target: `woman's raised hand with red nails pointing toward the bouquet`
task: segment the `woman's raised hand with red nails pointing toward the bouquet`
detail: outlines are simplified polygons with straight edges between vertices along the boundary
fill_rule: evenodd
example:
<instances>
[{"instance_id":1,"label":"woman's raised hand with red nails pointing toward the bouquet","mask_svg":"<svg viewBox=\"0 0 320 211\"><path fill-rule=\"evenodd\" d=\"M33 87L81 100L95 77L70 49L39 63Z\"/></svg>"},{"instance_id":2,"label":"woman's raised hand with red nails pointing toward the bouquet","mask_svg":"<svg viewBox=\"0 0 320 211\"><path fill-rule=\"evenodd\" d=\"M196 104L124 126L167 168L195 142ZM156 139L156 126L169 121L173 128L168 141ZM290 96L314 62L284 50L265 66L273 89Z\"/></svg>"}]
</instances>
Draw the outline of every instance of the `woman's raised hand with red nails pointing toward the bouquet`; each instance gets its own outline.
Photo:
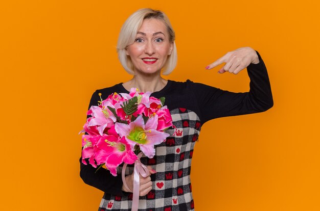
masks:
<instances>
[{"instance_id":1,"label":"woman's raised hand with red nails pointing toward the bouquet","mask_svg":"<svg viewBox=\"0 0 320 211\"><path fill-rule=\"evenodd\" d=\"M225 63L225 65L218 71L218 73L228 71L230 73L238 74L241 70L249 66L249 64L258 64L259 58L254 49L250 47L241 47L227 52L223 57L205 67L205 69L210 70L222 63Z\"/></svg>"}]
</instances>

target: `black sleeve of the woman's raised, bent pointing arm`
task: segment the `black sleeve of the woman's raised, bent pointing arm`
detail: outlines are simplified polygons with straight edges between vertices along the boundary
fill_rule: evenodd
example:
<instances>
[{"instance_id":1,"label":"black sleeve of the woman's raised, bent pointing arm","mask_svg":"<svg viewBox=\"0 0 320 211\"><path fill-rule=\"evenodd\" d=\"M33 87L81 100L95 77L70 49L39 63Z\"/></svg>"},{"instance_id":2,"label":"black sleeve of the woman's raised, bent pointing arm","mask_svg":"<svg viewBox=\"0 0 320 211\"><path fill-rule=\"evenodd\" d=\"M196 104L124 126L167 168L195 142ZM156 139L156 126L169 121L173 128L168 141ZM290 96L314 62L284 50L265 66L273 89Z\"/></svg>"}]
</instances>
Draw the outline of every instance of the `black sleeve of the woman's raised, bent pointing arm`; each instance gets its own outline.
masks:
<instances>
[{"instance_id":1,"label":"black sleeve of the woman's raised, bent pointing arm","mask_svg":"<svg viewBox=\"0 0 320 211\"><path fill-rule=\"evenodd\" d=\"M250 91L234 93L199 83L192 83L202 124L211 119L263 112L273 106L269 77L258 53L259 63L247 67Z\"/></svg>"}]
</instances>

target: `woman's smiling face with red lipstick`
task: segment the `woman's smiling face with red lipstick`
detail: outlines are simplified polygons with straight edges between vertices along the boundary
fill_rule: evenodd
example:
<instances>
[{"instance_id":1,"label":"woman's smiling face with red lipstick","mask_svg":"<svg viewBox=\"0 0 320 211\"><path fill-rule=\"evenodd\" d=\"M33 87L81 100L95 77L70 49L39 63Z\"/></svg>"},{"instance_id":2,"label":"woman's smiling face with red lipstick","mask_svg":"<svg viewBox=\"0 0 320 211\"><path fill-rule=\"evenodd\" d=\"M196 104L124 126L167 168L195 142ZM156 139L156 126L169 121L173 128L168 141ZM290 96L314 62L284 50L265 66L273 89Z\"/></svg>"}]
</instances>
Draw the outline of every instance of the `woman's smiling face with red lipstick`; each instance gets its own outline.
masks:
<instances>
[{"instance_id":1,"label":"woman's smiling face with red lipstick","mask_svg":"<svg viewBox=\"0 0 320 211\"><path fill-rule=\"evenodd\" d=\"M142 22L134 43L126 51L135 74L152 74L161 71L172 48L166 25L161 20L150 18Z\"/></svg>"}]
</instances>

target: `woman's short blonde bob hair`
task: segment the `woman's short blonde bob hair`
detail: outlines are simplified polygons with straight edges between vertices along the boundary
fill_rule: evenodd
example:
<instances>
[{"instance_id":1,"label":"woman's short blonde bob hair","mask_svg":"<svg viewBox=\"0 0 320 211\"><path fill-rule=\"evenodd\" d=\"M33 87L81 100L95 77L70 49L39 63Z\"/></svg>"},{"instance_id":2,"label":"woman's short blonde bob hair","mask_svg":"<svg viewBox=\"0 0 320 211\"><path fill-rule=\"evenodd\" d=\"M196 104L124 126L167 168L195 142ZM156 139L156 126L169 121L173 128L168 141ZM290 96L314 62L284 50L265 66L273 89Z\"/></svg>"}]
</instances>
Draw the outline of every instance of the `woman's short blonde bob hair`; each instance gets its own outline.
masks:
<instances>
[{"instance_id":1,"label":"woman's short blonde bob hair","mask_svg":"<svg viewBox=\"0 0 320 211\"><path fill-rule=\"evenodd\" d=\"M168 33L169 33L169 42L173 42L173 49L171 51L171 55L168 56L167 62L163 68L162 74L168 75L172 72L172 70L175 68L177 64L177 49L175 46L175 33L172 29L171 23L165 13L159 10L152 10L149 8L146 9L140 9L136 12L134 12L122 25L119 38L118 38L118 44L117 44L117 52L118 52L118 58L124 67L124 69L129 74L134 74L134 67L131 62L130 56L126 55L126 47L131 45L136 37L136 34L138 33L139 28L142 25L142 22L144 19L149 18L155 18L158 20L161 20L167 27Z\"/></svg>"}]
</instances>

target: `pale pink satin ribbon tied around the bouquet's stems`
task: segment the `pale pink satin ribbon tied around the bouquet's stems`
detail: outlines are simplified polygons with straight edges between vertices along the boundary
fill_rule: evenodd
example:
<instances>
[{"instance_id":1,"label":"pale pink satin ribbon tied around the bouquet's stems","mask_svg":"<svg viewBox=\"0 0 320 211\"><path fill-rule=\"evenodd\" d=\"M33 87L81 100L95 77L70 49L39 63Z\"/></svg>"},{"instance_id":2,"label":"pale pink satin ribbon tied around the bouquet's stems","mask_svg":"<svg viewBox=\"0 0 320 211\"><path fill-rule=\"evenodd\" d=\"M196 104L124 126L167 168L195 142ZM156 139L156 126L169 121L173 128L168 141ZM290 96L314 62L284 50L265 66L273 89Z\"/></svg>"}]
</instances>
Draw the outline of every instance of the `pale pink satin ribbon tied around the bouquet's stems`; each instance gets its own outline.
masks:
<instances>
[{"instance_id":1,"label":"pale pink satin ribbon tied around the bouquet's stems","mask_svg":"<svg viewBox=\"0 0 320 211\"><path fill-rule=\"evenodd\" d=\"M143 152L140 152L138 154L138 160L134 162L134 169L133 169L133 191L129 189L127 186L126 180L125 180L125 171L127 164L125 163L122 168L122 181L124 186L128 189L128 191L133 193L132 196L132 207L131 211L137 211L138 210L138 205L139 205L139 190L140 190L140 176L147 177L149 175L149 170L148 168L141 163L140 159L142 156Z\"/></svg>"}]
</instances>

